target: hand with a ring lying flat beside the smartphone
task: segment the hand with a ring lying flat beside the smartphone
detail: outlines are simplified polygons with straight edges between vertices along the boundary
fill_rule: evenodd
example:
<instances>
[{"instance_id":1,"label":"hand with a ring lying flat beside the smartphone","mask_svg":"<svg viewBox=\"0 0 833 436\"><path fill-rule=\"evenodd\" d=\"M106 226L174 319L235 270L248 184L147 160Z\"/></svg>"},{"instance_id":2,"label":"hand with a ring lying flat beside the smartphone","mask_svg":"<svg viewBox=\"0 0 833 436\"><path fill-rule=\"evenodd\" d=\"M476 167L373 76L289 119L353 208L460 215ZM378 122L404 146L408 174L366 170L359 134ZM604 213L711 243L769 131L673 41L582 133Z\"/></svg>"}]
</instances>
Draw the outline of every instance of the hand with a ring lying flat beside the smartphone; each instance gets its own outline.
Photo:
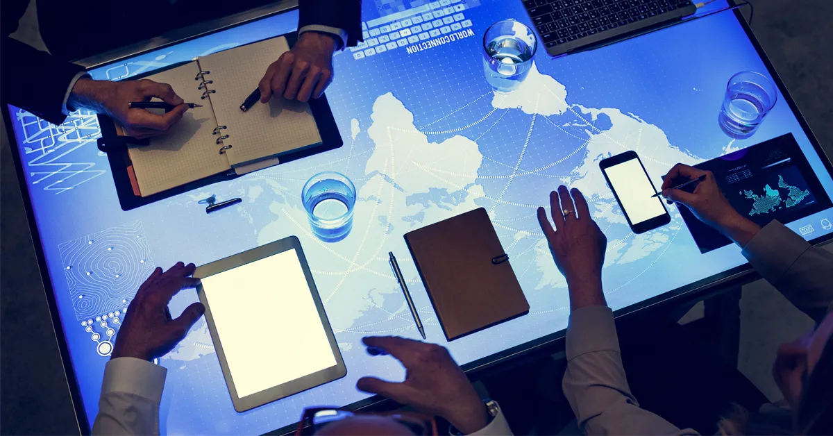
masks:
<instances>
[{"instance_id":1,"label":"hand with a ring lying flat beside the smartphone","mask_svg":"<svg viewBox=\"0 0 833 436\"><path fill-rule=\"evenodd\" d=\"M570 198L566 186L561 185L557 193L550 193L550 208L555 230L546 219L544 208L538 208L538 223L558 270L567 280L571 310L606 306L601 291L601 267L605 263L607 238L591 218L587 201L576 188ZM563 211L569 213L565 216Z\"/></svg>"}]
</instances>

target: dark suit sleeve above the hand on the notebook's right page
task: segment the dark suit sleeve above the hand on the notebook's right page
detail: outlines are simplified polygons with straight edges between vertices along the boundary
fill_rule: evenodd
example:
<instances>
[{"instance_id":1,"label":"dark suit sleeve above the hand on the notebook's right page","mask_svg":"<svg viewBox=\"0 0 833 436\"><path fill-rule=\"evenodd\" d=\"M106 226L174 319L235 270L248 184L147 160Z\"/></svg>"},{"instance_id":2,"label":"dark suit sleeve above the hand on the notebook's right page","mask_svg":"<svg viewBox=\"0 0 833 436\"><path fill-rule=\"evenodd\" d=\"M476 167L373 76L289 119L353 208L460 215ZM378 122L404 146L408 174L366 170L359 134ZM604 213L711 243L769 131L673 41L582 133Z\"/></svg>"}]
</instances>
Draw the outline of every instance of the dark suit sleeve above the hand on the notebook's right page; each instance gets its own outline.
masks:
<instances>
[{"instance_id":1,"label":"dark suit sleeve above the hand on the notebook's right page","mask_svg":"<svg viewBox=\"0 0 833 436\"><path fill-rule=\"evenodd\" d=\"M361 0L299 0L298 28L330 26L347 32L347 46L362 40Z\"/></svg>"}]
</instances>

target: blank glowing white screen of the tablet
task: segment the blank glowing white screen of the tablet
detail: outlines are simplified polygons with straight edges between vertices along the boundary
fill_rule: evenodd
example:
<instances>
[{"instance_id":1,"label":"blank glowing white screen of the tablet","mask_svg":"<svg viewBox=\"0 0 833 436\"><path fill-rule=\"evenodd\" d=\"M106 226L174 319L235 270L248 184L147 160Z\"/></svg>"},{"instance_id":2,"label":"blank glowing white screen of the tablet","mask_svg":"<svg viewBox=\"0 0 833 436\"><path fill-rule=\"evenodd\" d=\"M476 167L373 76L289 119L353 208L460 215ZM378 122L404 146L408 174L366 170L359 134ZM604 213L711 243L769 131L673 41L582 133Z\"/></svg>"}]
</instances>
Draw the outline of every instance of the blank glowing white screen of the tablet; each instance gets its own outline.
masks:
<instances>
[{"instance_id":1,"label":"blank glowing white screen of the tablet","mask_svg":"<svg viewBox=\"0 0 833 436\"><path fill-rule=\"evenodd\" d=\"M294 249L202 278L240 398L336 365Z\"/></svg>"}]
</instances>

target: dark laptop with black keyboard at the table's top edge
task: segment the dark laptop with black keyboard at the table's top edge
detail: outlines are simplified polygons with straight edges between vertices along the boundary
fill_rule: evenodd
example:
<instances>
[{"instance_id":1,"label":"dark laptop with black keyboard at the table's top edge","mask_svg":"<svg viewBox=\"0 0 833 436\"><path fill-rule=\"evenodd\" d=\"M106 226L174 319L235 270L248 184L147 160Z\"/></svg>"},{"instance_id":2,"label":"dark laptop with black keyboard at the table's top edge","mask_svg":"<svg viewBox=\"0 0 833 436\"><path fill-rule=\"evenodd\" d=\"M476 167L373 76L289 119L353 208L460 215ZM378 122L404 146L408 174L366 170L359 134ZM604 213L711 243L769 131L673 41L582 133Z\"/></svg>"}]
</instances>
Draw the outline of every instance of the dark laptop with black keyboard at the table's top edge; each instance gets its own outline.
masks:
<instances>
[{"instance_id":1,"label":"dark laptop with black keyboard at the table's top edge","mask_svg":"<svg viewBox=\"0 0 833 436\"><path fill-rule=\"evenodd\" d=\"M524 0L550 56L631 38L696 13L691 0Z\"/></svg>"}]
</instances>

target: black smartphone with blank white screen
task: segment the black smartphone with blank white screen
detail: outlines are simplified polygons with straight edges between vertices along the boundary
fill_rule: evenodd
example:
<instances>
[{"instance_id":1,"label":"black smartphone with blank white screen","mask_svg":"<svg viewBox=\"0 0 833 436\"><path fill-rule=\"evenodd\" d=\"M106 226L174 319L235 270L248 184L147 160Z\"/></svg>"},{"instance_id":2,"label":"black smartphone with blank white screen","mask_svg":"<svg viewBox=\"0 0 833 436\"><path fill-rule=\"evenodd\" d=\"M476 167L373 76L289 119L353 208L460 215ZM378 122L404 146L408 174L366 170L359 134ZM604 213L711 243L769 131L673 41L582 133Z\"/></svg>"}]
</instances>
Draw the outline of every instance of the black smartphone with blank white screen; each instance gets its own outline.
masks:
<instances>
[{"instance_id":1,"label":"black smartphone with blank white screen","mask_svg":"<svg viewBox=\"0 0 833 436\"><path fill-rule=\"evenodd\" d=\"M636 152L626 151L602 159L599 168L633 233L645 233L671 223L662 198L651 197L656 189Z\"/></svg>"}]
</instances>

